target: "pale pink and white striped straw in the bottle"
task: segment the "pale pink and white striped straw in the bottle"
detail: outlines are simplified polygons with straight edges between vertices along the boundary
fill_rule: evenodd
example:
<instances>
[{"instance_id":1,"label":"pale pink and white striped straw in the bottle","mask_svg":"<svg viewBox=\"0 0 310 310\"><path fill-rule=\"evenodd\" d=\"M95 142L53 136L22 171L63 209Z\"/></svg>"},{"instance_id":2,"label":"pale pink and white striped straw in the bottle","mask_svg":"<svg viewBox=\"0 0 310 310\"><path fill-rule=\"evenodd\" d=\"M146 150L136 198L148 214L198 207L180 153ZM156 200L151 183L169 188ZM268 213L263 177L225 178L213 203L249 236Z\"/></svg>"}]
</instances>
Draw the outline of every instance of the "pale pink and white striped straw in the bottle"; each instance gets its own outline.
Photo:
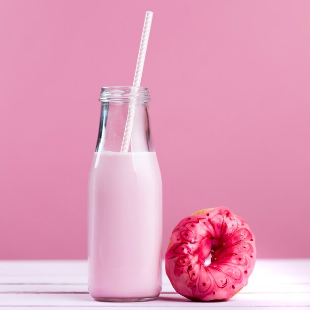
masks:
<instances>
[{"instance_id":1,"label":"pale pink and white striped straw in the bottle","mask_svg":"<svg viewBox=\"0 0 310 310\"><path fill-rule=\"evenodd\" d=\"M140 42L140 48L139 48L139 53L138 53L138 60L137 60L137 65L136 65L133 86L140 86L141 84L144 60L145 60L145 55L147 53L149 36L150 36L150 31L151 31L152 18L153 18L153 12L147 11L145 14L145 19L144 19L144 25L143 25L143 31L142 31L142 37L141 37L141 42ZM125 125L125 132L124 132L122 146L120 150L121 152L128 152L129 150L132 127L133 127L134 117L135 117L135 109L136 109L135 103L129 103L127 120L126 120L126 125Z\"/></svg>"}]
</instances>

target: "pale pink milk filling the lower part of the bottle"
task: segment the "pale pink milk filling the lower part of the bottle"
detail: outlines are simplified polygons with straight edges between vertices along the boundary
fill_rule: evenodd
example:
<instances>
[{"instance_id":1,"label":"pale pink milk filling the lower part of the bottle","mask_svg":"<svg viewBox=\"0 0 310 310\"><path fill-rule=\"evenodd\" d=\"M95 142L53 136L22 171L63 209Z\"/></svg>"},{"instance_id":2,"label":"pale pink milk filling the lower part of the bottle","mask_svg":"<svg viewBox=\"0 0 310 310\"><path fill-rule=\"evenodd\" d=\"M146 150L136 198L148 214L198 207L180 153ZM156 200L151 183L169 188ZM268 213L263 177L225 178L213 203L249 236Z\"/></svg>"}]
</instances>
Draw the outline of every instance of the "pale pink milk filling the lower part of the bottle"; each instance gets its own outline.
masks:
<instances>
[{"instance_id":1,"label":"pale pink milk filling the lower part of the bottle","mask_svg":"<svg viewBox=\"0 0 310 310\"><path fill-rule=\"evenodd\" d=\"M155 152L96 152L88 205L91 296L100 301L158 297L162 188Z\"/></svg>"}]
</instances>

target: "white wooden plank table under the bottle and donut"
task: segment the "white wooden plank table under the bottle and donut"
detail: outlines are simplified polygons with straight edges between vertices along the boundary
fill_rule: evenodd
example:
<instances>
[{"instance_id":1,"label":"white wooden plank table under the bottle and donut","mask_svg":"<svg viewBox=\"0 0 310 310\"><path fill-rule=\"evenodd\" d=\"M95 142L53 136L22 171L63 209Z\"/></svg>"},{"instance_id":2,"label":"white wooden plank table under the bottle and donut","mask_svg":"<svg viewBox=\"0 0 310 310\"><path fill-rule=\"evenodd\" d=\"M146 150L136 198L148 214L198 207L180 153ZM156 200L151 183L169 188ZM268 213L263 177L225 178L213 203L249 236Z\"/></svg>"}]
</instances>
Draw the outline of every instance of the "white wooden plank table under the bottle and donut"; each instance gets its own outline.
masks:
<instances>
[{"instance_id":1,"label":"white wooden plank table under the bottle and donut","mask_svg":"<svg viewBox=\"0 0 310 310\"><path fill-rule=\"evenodd\" d=\"M1 309L138 308L310 309L310 259L260 259L249 284L228 302L197 303L177 294L164 274L151 302L101 303L87 292L84 260L0 261Z\"/></svg>"}]
</instances>

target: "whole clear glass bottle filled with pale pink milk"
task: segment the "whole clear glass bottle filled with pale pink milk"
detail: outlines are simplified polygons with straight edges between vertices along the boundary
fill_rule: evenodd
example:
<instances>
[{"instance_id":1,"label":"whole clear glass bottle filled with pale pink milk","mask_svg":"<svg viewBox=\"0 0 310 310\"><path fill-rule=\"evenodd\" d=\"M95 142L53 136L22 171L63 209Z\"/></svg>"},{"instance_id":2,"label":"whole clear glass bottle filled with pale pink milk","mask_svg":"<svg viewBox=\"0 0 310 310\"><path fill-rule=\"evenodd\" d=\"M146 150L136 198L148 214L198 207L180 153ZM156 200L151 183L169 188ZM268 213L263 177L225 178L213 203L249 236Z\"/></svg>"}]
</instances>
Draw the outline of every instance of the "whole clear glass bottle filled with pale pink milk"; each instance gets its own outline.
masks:
<instances>
[{"instance_id":1,"label":"whole clear glass bottle filled with pale pink milk","mask_svg":"<svg viewBox=\"0 0 310 310\"><path fill-rule=\"evenodd\" d=\"M89 293L147 301L161 291L162 185L146 87L104 87L88 189ZM135 104L129 152L120 152Z\"/></svg>"}]
</instances>

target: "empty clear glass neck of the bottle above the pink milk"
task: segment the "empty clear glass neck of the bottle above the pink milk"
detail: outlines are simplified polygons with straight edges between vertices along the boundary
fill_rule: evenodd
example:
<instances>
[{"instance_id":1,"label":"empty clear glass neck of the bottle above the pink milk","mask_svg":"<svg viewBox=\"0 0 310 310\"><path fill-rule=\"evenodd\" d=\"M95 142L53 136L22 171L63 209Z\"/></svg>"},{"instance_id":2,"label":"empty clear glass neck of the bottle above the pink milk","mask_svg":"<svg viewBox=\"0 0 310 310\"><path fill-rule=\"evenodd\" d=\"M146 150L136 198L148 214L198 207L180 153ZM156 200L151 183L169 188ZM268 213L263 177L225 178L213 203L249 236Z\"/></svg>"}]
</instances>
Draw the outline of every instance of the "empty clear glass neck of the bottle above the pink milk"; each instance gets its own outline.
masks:
<instances>
[{"instance_id":1,"label":"empty clear glass neck of the bottle above the pink milk","mask_svg":"<svg viewBox=\"0 0 310 310\"><path fill-rule=\"evenodd\" d=\"M155 152L150 130L146 88L103 88L96 152L120 152L129 106L135 105L128 152ZM142 94L143 93L143 94Z\"/></svg>"}]
</instances>

